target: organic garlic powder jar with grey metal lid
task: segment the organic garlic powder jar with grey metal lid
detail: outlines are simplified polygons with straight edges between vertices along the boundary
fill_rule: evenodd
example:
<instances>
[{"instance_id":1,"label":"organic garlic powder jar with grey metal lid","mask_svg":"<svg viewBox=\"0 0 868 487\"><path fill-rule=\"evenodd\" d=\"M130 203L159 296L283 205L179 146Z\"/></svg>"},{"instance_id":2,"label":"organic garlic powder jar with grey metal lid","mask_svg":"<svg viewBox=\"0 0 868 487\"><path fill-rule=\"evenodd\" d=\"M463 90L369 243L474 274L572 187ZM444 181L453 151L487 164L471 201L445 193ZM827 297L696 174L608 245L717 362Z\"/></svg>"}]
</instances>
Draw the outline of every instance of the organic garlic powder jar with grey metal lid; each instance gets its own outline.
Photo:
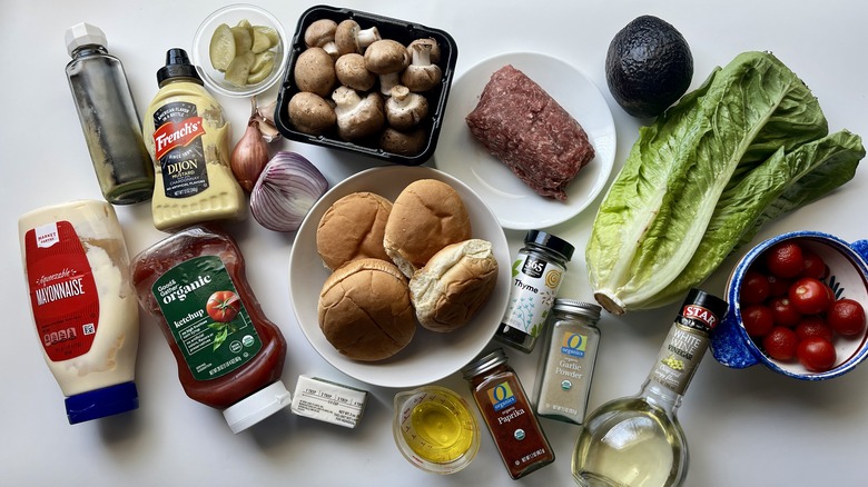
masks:
<instances>
[{"instance_id":1,"label":"organic garlic powder jar with grey metal lid","mask_svg":"<svg viewBox=\"0 0 868 487\"><path fill-rule=\"evenodd\" d=\"M549 332L536 368L533 398L539 416L581 425L600 345L602 308L559 298L549 315Z\"/></svg>"}]
</instances>

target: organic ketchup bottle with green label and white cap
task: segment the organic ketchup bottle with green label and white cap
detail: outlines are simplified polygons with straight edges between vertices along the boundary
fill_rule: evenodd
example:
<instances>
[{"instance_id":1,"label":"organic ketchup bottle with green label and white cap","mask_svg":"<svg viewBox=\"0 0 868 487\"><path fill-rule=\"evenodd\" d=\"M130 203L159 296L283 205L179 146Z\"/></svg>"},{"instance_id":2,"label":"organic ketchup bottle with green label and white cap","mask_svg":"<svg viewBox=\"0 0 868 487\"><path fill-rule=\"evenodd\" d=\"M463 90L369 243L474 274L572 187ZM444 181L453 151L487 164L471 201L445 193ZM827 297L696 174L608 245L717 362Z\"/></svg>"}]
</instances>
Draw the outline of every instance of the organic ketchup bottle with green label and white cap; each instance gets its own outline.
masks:
<instances>
[{"instance_id":1,"label":"organic ketchup bottle with green label and white cap","mask_svg":"<svg viewBox=\"0 0 868 487\"><path fill-rule=\"evenodd\" d=\"M132 260L139 305L154 316L191 399L223 409L233 433L289 406L286 340L266 318L235 240L200 225Z\"/></svg>"}]
</instances>

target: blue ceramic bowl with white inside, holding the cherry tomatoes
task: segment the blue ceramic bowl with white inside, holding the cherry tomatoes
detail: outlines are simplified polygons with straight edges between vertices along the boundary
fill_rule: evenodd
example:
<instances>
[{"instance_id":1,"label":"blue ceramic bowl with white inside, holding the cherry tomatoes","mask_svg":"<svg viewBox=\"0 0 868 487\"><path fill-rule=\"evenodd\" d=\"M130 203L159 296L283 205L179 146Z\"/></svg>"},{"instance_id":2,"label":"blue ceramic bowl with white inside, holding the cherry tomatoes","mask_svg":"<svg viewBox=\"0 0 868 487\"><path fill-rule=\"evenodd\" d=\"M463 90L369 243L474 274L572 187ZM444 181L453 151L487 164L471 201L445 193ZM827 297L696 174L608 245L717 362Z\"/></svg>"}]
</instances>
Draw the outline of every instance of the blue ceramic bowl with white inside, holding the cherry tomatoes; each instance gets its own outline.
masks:
<instances>
[{"instance_id":1,"label":"blue ceramic bowl with white inside, holding the cherry tomatoes","mask_svg":"<svg viewBox=\"0 0 868 487\"><path fill-rule=\"evenodd\" d=\"M831 370L812 372L798 360L780 361L766 355L744 330L741 321L741 281L753 261L771 246L785 240L796 240L803 248L822 257L829 267L826 284L838 299L855 299L868 309L868 240L848 244L838 237L819 231L795 231L770 238L752 248L739 260L727 282L729 311L711 336L714 358L727 367L747 368L757 364L801 380L825 380L852 370L868 357L868 328L857 337L835 337L838 360Z\"/></svg>"}]
</instances>

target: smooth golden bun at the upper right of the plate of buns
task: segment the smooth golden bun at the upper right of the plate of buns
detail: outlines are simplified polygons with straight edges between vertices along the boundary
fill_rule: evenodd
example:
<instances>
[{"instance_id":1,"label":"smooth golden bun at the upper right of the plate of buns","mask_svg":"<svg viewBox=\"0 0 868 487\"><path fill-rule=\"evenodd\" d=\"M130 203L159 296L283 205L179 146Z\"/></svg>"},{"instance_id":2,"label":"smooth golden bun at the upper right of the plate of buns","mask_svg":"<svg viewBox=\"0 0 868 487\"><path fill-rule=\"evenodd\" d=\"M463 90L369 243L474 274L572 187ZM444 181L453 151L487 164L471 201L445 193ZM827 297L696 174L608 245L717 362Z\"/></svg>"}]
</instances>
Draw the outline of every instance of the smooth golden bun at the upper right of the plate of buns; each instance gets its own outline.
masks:
<instances>
[{"instance_id":1,"label":"smooth golden bun at the upper right of the plate of buns","mask_svg":"<svg viewBox=\"0 0 868 487\"><path fill-rule=\"evenodd\" d=\"M395 198L386 220L383 247L407 278L450 244L471 238L464 201L448 183L420 179Z\"/></svg>"}]
</instances>

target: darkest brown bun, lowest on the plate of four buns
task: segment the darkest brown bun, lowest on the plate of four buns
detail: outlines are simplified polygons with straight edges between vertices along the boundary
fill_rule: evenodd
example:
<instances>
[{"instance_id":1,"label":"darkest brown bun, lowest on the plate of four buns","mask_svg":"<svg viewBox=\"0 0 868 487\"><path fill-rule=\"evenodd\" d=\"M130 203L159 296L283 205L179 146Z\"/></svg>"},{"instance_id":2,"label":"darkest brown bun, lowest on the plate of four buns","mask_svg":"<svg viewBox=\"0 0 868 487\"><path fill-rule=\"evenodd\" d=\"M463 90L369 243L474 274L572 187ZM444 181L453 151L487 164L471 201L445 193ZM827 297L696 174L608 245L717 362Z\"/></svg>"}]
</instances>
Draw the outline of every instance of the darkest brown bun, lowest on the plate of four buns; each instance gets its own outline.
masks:
<instances>
[{"instance_id":1,"label":"darkest brown bun, lowest on the plate of four buns","mask_svg":"<svg viewBox=\"0 0 868 487\"><path fill-rule=\"evenodd\" d=\"M335 270L323 284L317 309L328 342L355 360L392 357L416 331L407 280L381 259L352 260Z\"/></svg>"}]
</instances>

